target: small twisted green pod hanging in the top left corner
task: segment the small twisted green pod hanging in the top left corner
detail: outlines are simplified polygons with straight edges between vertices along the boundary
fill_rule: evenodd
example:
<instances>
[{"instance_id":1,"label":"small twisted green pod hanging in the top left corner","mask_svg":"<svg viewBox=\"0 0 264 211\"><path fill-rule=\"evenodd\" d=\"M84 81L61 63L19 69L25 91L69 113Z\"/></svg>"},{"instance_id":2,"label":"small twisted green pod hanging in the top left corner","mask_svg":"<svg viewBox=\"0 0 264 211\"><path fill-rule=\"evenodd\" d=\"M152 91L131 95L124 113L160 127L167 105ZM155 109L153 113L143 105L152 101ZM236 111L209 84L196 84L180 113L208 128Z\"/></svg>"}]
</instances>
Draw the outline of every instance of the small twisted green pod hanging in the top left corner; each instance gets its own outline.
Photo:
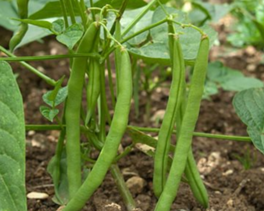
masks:
<instances>
[{"instance_id":1,"label":"small twisted green pod hanging in the top left corner","mask_svg":"<svg viewBox=\"0 0 264 211\"><path fill-rule=\"evenodd\" d=\"M29 0L17 0L18 15L21 19L25 19L28 16L28 4ZM15 47L22 41L28 29L27 23L21 23L18 30L12 36L9 42L10 51L13 52Z\"/></svg>"}]
</instances>

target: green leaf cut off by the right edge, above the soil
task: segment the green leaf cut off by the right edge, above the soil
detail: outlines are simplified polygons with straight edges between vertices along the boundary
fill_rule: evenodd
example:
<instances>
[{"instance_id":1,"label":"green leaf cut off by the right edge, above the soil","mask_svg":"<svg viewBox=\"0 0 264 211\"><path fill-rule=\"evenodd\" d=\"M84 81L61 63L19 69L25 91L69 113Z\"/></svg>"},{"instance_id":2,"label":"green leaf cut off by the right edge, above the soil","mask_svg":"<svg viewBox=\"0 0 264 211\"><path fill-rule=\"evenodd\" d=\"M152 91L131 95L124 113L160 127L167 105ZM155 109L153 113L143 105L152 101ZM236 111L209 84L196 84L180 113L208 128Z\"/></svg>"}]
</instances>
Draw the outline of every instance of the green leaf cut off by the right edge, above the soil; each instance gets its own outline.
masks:
<instances>
[{"instance_id":1,"label":"green leaf cut off by the right edge, above the soil","mask_svg":"<svg viewBox=\"0 0 264 211\"><path fill-rule=\"evenodd\" d=\"M242 122L247 125L254 146L264 154L264 88L237 93L233 106Z\"/></svg>"}]
</instances>

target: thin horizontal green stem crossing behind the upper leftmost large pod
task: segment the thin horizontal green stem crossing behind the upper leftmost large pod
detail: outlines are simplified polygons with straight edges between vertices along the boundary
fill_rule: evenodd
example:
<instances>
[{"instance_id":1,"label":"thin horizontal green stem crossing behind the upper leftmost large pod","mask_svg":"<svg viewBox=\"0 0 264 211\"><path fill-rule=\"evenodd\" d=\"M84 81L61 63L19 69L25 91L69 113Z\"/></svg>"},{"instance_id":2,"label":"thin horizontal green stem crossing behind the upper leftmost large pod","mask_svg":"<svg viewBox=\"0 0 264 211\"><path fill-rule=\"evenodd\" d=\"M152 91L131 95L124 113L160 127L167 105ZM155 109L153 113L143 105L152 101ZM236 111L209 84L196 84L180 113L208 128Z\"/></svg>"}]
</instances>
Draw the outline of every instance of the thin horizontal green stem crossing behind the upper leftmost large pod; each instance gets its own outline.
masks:
<instances>
[{"instance_id":1,"label":"thin horizontal green stem crossing behind the upper leftmost large pod","mask_svg":"<svg viewBox=\"0 0 264 211\"><path fill-rule=\"evenodd\" d=\"M98 57L99 54L61 54L61 55L46 55L46 56L17 56L17 57L0 57L0 61L43 61L52 59L67 59L76 57Z\"/></svg>"}]
</instances>

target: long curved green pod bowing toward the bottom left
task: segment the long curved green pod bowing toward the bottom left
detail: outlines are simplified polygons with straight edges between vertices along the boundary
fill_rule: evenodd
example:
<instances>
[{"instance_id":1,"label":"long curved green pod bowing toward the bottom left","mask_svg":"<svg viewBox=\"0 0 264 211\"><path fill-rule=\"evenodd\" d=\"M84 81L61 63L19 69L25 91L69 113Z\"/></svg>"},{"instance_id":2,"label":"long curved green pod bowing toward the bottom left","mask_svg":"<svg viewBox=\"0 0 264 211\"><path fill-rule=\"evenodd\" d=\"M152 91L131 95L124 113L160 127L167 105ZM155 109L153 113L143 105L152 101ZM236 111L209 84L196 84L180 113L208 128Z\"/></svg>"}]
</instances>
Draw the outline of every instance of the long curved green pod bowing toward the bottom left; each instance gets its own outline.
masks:
<instances>
[{"instance_id":1,"label":"long curved green pod bowing toward the bottom left","mask_svg":"<svg viewBox=\"0 0 264 211\"><path fill-rule=\"evenodd\" d=\"M117 96L115 113L109 133L92 171L63 211L81 210L86 201L101 185L107 170L117 154L121 138L126 131L132 97L132 73L128 51L123 48L119 50L121 53L121 71L119 77L120 90Z\"/></svg>"}]
</instances>

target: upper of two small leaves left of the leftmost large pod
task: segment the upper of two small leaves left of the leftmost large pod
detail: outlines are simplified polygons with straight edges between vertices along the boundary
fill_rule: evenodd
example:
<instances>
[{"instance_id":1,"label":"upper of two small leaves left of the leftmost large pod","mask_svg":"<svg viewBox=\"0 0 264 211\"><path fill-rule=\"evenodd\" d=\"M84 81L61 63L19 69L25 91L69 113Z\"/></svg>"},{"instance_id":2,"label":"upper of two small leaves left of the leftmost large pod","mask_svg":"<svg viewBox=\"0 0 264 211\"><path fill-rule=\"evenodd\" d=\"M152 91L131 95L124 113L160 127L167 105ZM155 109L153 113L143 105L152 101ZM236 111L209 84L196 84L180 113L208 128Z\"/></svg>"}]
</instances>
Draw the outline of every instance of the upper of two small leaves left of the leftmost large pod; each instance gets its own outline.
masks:
<instances>
[{"instance_id":1,"label":"upper of two small leaves left of the leftmost large pod","mask_svg":"<svg viewBox=\"0 0 264 211\"><path fill-rule=\"evenodd\" d=\"M42 99L49 106L56 107L57 105L65 101L67 95L68 95L68 88L63 87L60 88L58 91L56 89L52 91L48 91L43 95Z\"/></svg>"}]
</instances>

